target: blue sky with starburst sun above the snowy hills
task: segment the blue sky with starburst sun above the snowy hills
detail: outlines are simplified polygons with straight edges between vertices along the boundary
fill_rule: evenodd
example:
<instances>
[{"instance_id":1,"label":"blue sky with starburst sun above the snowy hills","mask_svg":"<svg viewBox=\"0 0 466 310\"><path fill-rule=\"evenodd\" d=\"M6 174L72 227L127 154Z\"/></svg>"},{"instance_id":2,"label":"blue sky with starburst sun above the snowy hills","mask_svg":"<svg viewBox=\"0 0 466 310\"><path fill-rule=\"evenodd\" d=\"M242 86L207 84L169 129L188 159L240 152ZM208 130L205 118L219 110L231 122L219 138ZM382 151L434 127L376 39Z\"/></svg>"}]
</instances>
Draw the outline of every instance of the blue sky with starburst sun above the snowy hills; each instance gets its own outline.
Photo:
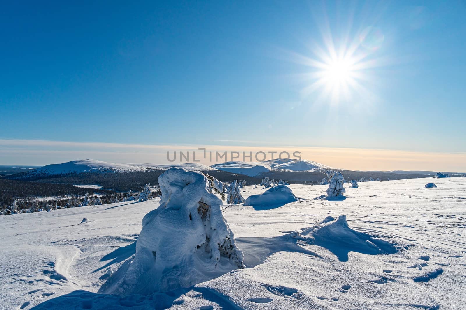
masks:
<instances>
[{"instance_id":1,"label":"blue sky with starburst sun above the snowy hills","mask_svg":"<svg viewBox=\"0 0 466 310\"><path fill-rule=\"evenodd\" d=\"M466 170L465 16L455 0L3 3L0 164L221 145L386 149L432 158L386 168Z\"/></svg>"}]
</instances>

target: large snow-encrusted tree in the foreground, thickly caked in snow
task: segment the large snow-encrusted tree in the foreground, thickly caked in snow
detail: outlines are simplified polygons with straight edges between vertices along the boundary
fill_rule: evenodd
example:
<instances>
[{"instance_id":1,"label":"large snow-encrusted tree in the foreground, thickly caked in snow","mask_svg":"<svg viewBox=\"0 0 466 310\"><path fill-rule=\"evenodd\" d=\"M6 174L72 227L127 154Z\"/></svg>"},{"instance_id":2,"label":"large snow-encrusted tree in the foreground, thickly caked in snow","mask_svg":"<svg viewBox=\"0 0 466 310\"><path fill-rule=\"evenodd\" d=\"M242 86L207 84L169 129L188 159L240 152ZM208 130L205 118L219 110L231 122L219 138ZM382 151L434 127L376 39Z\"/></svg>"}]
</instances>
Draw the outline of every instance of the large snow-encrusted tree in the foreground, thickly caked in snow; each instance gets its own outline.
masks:
<instances>
[{"instance_id":1,"label":"large snow-encrusted tree in the foreground, thickly caked in snow","mask_svg":"<svg viewBox=\"0 0 466 310\"><path fill-rule=\"evenodd\" d=\"M222 215L222 201L201 172L170 168L158 177L160 206L143 218L136 254L100 292L146 295L204 282L244 268Z\"/></svg>"}]
</instances>

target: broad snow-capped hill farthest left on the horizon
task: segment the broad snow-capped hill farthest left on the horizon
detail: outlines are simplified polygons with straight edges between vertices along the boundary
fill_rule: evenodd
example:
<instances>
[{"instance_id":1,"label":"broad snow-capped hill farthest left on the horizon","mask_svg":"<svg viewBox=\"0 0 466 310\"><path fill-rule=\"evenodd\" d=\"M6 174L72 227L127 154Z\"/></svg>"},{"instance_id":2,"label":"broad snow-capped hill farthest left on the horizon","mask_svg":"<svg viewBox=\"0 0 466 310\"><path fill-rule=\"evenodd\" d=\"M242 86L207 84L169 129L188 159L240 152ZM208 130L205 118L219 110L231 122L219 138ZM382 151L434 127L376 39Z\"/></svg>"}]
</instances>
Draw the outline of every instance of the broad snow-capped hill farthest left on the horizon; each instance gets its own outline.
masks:
<instances>
[{"instance_id":1,"label":"broad snow-capped hill farthest left on the horizon","mask_svg":"<svg viewBox=\"0 0 466 310\"><path fill-rule=\"evenodd\" d=\"M71 162L63 162L59 164L51 164L34 171L29 172L30 174L48 174L48 175L61 175L69 173L82 173L82 172L129 172L129 171L144 171L147 168L128 165L128 164L117 164L111 162L101 162L95 159L82 159Z\"/></svg>"}]
</instances>

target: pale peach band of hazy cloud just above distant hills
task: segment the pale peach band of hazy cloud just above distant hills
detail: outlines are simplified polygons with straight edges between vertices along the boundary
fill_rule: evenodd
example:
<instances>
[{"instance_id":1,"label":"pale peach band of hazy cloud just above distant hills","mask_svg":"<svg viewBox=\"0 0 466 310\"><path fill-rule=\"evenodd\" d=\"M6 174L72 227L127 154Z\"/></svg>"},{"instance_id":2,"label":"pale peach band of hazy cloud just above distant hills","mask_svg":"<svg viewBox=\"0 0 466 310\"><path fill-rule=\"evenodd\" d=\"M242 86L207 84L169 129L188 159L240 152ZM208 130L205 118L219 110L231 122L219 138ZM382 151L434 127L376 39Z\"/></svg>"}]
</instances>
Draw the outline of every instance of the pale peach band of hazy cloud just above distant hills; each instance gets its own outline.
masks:
<instances>
[{"instance_id":1,"label":"pale peach band of hazy cloud just above distant hills","mask_svg":"<svg viewBox=\"0 0 466 310\"><path fill-rule=\"evenodd\" d=\"M35 149L31 151L29 148L35 145ZM242 152L245 152L248 158L249 152L252 153L252 158L246 162L260 162L255 160L256 152L266 153L265 160L278 158L280 152L288 152L290 159L297 159L293 152L299 152L297 156L301 159L318 162L323 165L347 169L347 170L361 170L361 171L392 171L392 170L415 170L415 171L438 171L438 172L457 172L464 173L466 167L456 166L456 162L461 162L465 157L465 153L442 153L442 152L413 152L404 150L386 150L386 149L358 149L358 148L320 148L320 147L285 147L285 148L258 148L251 146L228 146L228 145L148 145L148 144L117 144L117 143L85 143L85 142L53 142L53 141L7 141L0 140L0 146L3 146L0 152L10 152L11 160L17 161L15 163L3 164L10 166L46 166L48 164L56 164L63 162L70 162L75 160L92 159L103 162L112 163L153 163L153 164L180 164L186 162L193 162L193 152L196 162L212 166L213 164L230 161L231 152L238 152L239 158L234 161L242 161ZM203 150L199 147L206 148L206 152L212 151L212 161L209 161L209 156L203 158ZM85 149L82 149L85 148ZM180 160L179 152L183 152L186 156L189 152L189 161L185 158ZM227 152L226 159L219 158L215 161L215 152L220 155ZM39 162L23 163L25 160L21 159L19 154L29 154L34 152L34 159L41 160ZM169 161L167 159L167 152L169 158L173 160L173 152L177 152L176 160ZM273 154L272 154L273 153ZM81 155L95 155L84 156ZM137 159L134 159L137 154ZM207 153L208 154L208 153ZM260 155L262 156L262 155ZM262 159L259 156L260 159ZM283 155L282 158L286 158ZM394 166L393 166L394 165Z\"/></svg>"}]
</instances>

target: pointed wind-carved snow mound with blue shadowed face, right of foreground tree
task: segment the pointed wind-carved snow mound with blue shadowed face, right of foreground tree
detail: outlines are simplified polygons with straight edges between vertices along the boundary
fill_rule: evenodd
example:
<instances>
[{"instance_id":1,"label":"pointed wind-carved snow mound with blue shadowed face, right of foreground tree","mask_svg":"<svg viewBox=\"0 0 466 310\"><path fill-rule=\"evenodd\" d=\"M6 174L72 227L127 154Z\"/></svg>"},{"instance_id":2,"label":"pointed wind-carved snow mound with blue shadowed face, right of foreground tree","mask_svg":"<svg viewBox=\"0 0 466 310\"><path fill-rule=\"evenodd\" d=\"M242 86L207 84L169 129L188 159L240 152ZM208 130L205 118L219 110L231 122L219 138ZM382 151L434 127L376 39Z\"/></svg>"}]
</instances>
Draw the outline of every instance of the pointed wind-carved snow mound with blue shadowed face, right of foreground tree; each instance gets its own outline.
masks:
<instances>
[{"instance_id":1,"label":"pointed wind-carved snow mound with blue shadowed face, right of foreground tree","mask_svg":"<svg viewBox=\"0 0 466 310\"><path fill-rule=\"evenodd\" d=\"M329 249L341 261L348 260L349 251L371 255L398 251L395 243L350 228L345 215L337 219L327 216L299 235L310 237L314 244Z\"/></svg>"}]
</instances>

